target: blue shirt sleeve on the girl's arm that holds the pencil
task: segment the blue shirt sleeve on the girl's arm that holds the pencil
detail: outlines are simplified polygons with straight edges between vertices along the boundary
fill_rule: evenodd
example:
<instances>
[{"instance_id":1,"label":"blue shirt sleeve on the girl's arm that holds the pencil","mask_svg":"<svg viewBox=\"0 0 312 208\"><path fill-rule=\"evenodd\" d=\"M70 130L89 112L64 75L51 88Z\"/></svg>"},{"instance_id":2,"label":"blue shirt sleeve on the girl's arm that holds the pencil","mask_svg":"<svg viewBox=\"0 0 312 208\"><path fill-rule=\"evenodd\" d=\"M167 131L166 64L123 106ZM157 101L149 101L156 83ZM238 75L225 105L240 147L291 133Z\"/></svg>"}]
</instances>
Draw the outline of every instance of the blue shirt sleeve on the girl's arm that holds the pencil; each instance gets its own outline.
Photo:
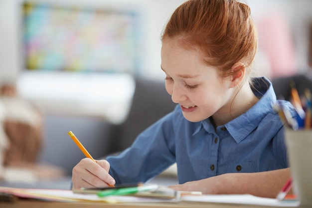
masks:
<instances>
[{"instance_id":1,"label":"blue shirt sleeve on the girl's arm that holds the pencil","mask_svg":"<svg viewBox=\"0 0 312 208\"><path fill-rule=\"evenodd\" d=\"M175 162L174 112L143 131L133 145L110 156L110 175L117 184L147 182Z\"/></svg>"}]
</instances>

